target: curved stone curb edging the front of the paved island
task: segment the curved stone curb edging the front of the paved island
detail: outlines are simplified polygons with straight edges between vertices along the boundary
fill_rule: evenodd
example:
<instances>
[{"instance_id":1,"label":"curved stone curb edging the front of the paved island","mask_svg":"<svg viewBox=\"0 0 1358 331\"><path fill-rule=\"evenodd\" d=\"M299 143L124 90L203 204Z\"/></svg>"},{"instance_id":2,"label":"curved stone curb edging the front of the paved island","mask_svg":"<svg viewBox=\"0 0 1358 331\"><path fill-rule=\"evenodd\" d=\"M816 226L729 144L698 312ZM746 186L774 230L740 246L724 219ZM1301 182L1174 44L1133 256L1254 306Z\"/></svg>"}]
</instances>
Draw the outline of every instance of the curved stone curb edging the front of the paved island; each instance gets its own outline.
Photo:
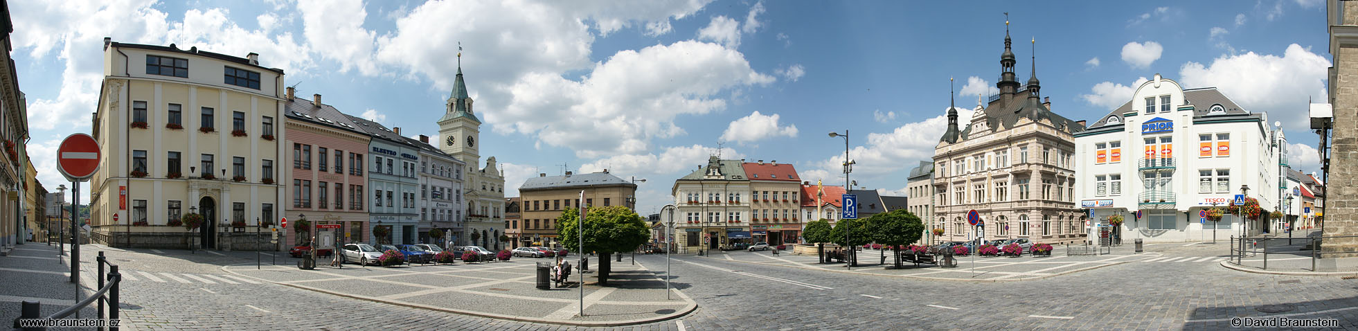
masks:
<instances>
[{"instance_id":1,"label":"curved stone curb edging the front of the paved island","mask_svg":"<svg viewBox=\"0 0 1358 331\"><path fill-rule=\"evenodd\" d=\"M488 312L475 312L475 311L463 311L463 309L432 307L432 305L405 303L405 301L391 301L391 300L382 300L382 298L368 297L368 296L338 293L338 292L326 290L326 289L318 289L318 288L311 288L311 286L306 286L306 285L281 284L281 282L274 282L274 281L269 281L269 279L257 278L257 277L240 274L240 273L236 273L236 271L231 271L230 269L227 269L230 266L249 266L249 263L221 266L221 271L227 271L227 273L231 273L231 274L239 275L239 277L247 277L247 278L251 278L251 279L258 279L258 281L266 282L266 284L282 285L282 286L289 286L289 288L295 288L295 289L304 289L304 290L311 290L311 292L319 292L319 293L338 296L338 297L348 297L348 298L356 298L356 300L364 300L364 301L373 301L373 303L382 303L382 304L390 304L390 305L401 305L401 307L409 307L409 308L418 308L418 309L426 309L426 311L437 311L437 312L449 312L449 313L458 313L458 315L469 315L469 316L477 316L477 317L488 317L488 319L498 319L498 320L515 320L515 322L530 322L530 323L543 323L543 324L557 324L557 326L621 327L621 326L648 324L648 323L655 323L655 322L665 322L665 320L672 320L672 319L683 317L683 316L691 313L693 311L698 309L698 303L697 301L694 301L693 298L689 298L689 296L684 296L683 292L679 292L678 289L671 289L671 290L674 290L676 293L680 293L679 297L682 297L689 304L684 305L683 308L679 308L674 313L668 313L668 315L664 315L664 316L659 316L659 317L653 317L653 319L611 320L611 322L547 320L547 319L528 317L528 316L498 315L498 313L488 313Z\"/></svg>"}]
</instances>

